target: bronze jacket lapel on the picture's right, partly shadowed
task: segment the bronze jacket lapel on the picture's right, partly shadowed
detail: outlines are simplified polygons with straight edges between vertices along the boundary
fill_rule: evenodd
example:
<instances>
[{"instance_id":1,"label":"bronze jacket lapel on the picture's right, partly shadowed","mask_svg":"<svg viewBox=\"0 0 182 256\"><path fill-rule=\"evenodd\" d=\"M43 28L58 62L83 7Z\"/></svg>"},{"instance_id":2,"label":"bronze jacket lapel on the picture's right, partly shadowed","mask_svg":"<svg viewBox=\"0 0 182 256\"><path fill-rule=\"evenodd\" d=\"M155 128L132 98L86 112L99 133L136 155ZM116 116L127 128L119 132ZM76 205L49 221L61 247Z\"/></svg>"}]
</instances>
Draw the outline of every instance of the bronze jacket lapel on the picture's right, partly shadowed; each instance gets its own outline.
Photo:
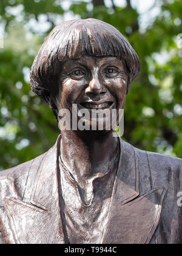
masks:
<instances>
[{"instance_id":1,"label":"bronze jacket lapel on the picture's right, partly shadowed","mask_svg":"<svg viewBox=\"0 0 182 256\"><path fill-rule=\"evenodd\" d=\"M160 220L166 190L139 192L140 159L137 151L120 140L121 157L103 234L103 243L149 243Z\"/></svg>"}]
</instances>

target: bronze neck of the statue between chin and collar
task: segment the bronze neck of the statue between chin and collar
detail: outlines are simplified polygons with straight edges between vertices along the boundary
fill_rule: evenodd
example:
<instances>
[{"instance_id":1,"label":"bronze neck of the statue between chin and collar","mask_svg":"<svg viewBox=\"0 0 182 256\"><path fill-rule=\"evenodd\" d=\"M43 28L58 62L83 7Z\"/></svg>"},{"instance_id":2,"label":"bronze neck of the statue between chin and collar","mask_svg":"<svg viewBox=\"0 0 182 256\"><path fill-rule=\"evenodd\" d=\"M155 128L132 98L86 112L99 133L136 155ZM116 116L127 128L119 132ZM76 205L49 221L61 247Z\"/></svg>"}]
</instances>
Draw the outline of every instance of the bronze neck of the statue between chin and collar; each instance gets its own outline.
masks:
<instances>
[{"instance_id":1,"label":"bronze neck of the statue between chin and collar","mask_svg":"<svg viewBox=\"0 0 182 256\"><path fill-rule=\"evenodd\" d=\"M79 184L114 164L118 140L112 131L62 131L61 159Z\"/></svg>"}]
</instances>

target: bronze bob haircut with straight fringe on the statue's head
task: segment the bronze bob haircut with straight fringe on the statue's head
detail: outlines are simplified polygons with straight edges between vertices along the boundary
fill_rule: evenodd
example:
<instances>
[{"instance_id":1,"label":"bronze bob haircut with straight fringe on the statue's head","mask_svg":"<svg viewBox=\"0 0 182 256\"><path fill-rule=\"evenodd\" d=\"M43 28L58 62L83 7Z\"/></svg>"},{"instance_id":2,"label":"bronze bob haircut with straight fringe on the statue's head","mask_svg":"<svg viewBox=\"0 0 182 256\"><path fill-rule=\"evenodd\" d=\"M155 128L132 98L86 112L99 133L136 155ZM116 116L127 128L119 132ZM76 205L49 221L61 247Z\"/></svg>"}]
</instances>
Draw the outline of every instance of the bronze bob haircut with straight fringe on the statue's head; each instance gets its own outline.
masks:
<instances>
[{"instance_id":1,"label":"bronze bob haircut with straight fringe on the statue's head","mask_svg":"<svg viewBox=\"0 0 182 256\"><path fill-rule=\"evenodd\" d=\"M62 22L45 39L30 71L32 91L49 104L56 118L58 109L53 95L58 94L60 87L62 63L84 55L121 58L129 78L127 92L140 72L135 50L115 27L93 18Z\"/></svg>"}]
</instances>

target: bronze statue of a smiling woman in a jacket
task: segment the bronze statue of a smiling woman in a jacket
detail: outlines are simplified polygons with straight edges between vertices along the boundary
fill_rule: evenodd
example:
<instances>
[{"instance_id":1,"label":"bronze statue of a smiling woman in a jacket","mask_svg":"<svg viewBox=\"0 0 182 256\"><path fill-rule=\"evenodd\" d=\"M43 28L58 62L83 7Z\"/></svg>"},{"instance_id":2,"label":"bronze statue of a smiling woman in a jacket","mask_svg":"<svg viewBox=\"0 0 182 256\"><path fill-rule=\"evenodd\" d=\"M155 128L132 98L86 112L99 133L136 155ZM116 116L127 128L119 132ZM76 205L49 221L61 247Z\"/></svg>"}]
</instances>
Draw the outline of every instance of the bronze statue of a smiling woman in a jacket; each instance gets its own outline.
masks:
<instances>
[{"instance_id":1,"label":"bronze statue of a smiling woman in a jacket","mask_svg":"<svg viewBox=\"0 0 182 256\"><path fill-rule=\"evenodd\" d=\"M62 109L72 122L76 105L89 113L116 109L118 124L139 71L135 50L115 27L75 19L50 32L30 83L59 122ZM104 118L102 130L98 117L95 130L62 129L49 151L1 171L1 243L182 243L182 160L113 137ZM84 124L92 127L93 119Z\"/></svg>"}]
</instances>

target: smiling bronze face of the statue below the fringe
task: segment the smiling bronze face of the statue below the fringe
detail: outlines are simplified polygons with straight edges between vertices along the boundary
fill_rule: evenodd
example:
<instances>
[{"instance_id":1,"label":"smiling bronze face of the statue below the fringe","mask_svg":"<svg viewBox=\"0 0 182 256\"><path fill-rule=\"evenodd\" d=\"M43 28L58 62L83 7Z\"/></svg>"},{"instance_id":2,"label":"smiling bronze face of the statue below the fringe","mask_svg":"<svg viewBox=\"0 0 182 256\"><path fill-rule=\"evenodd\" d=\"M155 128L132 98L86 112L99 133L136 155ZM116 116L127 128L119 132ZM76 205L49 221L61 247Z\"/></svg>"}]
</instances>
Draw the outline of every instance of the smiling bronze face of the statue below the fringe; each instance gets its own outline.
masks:
<instances>
[{"instance_id":1,"label":"smiling bronze face of the statue below the fringe","mask_svg":"<svg viewBox=\"0 0 182 256\"><path fill-rule=\"evenodd\" d=\"M127 72L120 58L84 56L80 59L69 59L62 67L60 84L62 90L58 99L58 110L69 109L71 119L73 104L78 109L84 108L90 112L90 118L84 119L87 125L92 125L91 112L95 110L102 113L124 108ZM80 118L78 115L78 121ZM106 128L106 121L104 120L103 129ZM98 126L99 117L96 122Z\"/></svg>"}]
</instances>

